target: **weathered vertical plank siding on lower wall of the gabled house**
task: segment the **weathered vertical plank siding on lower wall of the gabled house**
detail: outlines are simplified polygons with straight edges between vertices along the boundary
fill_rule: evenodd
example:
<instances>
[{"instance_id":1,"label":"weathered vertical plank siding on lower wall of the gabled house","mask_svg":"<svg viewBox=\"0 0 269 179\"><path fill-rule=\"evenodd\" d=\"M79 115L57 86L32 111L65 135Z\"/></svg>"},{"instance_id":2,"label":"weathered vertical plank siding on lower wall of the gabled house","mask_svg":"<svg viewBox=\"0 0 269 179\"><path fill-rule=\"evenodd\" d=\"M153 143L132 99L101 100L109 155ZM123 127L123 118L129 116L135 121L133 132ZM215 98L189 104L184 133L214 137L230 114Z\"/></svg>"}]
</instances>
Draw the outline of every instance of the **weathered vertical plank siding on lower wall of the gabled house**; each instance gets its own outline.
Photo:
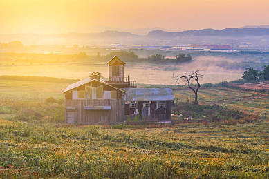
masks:
<instances>
[{"instance_id":1,"label":"weathered vertical plank siding on lower wall of the gabled house","mask_svg":"<svg viewBox=\"0 0 269 179\"><path fill-rule=\"evenodd\" d=\"M111 110L84 110L85 106L111 106ZM122 99L66 100L66 107L75 107L76 124L109 124L124 121L124 101Z\"/></svg>"}]
</instances>

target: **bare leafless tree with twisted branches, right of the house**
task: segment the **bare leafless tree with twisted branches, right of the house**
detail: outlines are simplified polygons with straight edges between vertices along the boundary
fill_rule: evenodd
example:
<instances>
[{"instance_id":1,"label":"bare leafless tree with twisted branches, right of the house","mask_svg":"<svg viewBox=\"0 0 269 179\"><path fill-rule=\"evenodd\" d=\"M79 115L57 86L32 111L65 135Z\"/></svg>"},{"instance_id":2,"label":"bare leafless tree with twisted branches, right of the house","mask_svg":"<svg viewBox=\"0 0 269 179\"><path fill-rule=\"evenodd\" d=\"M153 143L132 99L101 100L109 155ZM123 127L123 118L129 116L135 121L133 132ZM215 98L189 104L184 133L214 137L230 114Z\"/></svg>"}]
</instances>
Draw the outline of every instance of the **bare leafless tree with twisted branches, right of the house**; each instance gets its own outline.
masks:
<instances>
[{"instance_id":1,"label":"bare leafless tree with twisted branches, right of the house","mask_svg":"<svg viewBox=\"0 0 269 179\"><path fill-rule=\"evenodd\" d=\"M184 79L186 81L186 84L188 85L189 89L192 89L192 91L195 94L195 101L194 104L198 105L198 90L200 89L201 85L199 83L199 77L201 77L203 75L199 74L199 70L193 71L189 74L185 74L183 76L174 76L173 74L173 78L176 79L176 82L178 82L180 79ZM192 81L196 81L197 86L196 87L192 87Z\"/></svg>"}]
</instances>

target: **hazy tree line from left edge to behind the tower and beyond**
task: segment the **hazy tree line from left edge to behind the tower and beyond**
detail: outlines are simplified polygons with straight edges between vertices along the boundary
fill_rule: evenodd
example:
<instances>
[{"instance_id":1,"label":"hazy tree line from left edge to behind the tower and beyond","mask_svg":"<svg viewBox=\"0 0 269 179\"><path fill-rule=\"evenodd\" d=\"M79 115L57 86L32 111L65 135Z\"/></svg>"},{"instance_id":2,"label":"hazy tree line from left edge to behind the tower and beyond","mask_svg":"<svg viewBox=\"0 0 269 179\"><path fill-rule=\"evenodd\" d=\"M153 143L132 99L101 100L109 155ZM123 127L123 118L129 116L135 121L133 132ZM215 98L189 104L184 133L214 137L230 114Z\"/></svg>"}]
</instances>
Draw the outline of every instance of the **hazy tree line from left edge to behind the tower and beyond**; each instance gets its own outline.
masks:
<instances>
[{"instance_id":1,"label":"hazy tree line from left edge to behind the tower and beyond","mask_svg":"<svg viewBox=\"0 0 269 179\"><path fill-rule=\"evenodd\" d=\"M13 44L13 46L16 46L15 44ZM0 43L0 46L1 45L5 46L6 44ZM17 47L19 47L19 45L17 45ZM190 54L179 53L175 58L166 58L162 54L153 54L151 56L141 58L132 51L110 52L109 54L104 55L101 55L100 52L98 52L96 55L88 55L86 52L79 52L77 54L37 54L6 52L1 53L1 56L5 59L12 58L16 59L16 61L25 63L63 63L69 61L103 63L109 61L114 56L118 56L120 59L122 59L122 61L133 63L184 63L192 61L192 56Z\"/></svg>"}]
</instances>

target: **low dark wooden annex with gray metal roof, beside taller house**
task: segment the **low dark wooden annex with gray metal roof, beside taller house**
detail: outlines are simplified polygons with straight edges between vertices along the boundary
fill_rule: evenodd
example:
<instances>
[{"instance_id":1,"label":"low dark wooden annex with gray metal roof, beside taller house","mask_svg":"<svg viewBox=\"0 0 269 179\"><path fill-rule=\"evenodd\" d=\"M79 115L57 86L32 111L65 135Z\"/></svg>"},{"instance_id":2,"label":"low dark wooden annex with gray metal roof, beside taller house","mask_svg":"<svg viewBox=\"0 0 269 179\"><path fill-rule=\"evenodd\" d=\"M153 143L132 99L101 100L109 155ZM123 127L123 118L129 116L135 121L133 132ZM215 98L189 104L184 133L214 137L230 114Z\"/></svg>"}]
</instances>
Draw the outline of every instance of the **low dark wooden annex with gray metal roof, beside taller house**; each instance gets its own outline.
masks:
<instances>
[{"instance_id":1,"label":"low dark wooden annex with gray metal roof, beside taller house","mask_svg":"<svg viewBox=\"0 0 269 179\"><path fill-rule=\"evenodd\" d=\"M169 88L124 89L125 118L139 117L149 121L171 121L174 94Z\"/></svg>"}]
</instances>

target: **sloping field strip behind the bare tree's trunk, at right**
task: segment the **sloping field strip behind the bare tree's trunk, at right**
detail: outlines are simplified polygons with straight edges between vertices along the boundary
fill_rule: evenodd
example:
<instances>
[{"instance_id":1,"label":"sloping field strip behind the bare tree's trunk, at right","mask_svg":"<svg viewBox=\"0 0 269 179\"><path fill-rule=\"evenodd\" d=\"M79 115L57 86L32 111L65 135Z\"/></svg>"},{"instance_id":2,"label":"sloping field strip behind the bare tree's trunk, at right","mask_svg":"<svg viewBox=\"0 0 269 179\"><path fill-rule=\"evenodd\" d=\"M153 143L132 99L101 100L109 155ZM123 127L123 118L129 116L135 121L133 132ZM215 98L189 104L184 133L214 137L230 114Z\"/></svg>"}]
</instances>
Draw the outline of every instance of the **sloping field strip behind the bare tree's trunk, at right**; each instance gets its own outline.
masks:
<instances>
[{"instance_id":1,"label":"sloping field strip behind the bare tree's trunk, at right","mask_svg":"<svg viewBox=\"0 0 269 179\"><path fill-rule=\"evenodd\" d=\"M190 90L176 90L178 101L192 101L194 93ZM253 99L252 99L253 95ZM225 87L199 89L198 100L201 104L221 105L230 109L239 109L250 114L269 116L268 95L259 92L241 91Z\"/></svg>"}]
</instances>

